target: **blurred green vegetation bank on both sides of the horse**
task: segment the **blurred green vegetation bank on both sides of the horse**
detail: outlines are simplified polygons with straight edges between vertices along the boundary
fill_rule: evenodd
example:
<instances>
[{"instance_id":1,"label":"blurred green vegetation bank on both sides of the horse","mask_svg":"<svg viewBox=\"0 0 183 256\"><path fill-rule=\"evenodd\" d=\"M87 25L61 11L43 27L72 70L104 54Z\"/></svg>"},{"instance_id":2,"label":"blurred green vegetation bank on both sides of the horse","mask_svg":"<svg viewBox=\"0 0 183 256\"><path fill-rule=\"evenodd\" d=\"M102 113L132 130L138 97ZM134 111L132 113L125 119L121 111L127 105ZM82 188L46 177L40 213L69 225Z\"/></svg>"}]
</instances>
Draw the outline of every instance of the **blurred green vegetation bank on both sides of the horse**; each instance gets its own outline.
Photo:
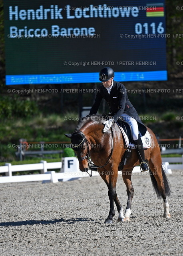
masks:
<instances>
[{"instance_id":1,"label":"blurred green vegetation bank on both sides of the horse","mask_svg":"<svg viewBox=\"0 0 183 256\"><path fill-rule=\"evenodd\" d=\"M139 114L139 116L142 122L152 128L160 138L172 138L171 134L178 138L183 128L183 122L176 120L174 112L150 112ZM179 113L179 116L183 114ZM31 117L17 118L14 116L4 119L0 126L0 162L11 163L17 160L15 152L18 150L20 138L26 139L27 142L70 142L64 133L72 133L77 125L78 113L76 112L66 112L63 115L39 113ZM44 148L44 150L63 149L62 144L58 144L57 148ZM40 148L28 150L40 150ZM50 160L53 161L58 156L58 154L46 155L46 158L51 158ZM29 159L30 157L26 156L26 160L29 161ZM36 158L32 160L35 162Z\"/></svg>"}]
</instances>

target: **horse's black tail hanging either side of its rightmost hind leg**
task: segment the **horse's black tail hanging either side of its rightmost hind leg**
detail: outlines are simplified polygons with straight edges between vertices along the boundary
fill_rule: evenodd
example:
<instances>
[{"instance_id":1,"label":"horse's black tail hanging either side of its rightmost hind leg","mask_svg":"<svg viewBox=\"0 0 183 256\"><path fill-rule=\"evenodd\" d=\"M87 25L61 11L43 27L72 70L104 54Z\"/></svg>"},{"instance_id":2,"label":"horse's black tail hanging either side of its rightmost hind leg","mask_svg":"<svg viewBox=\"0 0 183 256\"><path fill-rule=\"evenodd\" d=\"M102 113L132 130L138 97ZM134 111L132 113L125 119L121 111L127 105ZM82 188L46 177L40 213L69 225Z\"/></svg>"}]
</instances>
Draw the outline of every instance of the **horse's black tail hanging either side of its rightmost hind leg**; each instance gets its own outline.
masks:
<instances>
[{"instance_id":1,"label":"horse's black tail hanging either side of its rightmost hind leg","mask_svg":"<svg viewBox=\"0 0 183 256\"><path fill-rule=\"evenodd\" d=\"M170 183L169 183L169 180L167 179L167 176L165 174L165 168L163 166L163 164L161 164L161 172L162 172L162 176L163 176L163 183L164 183L164 186L165 186L165 195L166 196L170 196L171 195L171 190L170 190ZM157 186L157 181L153 175L153 172L151 170L149 170L149 174L151 176L151 182L153 184L153 188L157 194L157 197L158 198L161 198L161 192L159 191L158 189L158 186Z\"/></svg>"}]
</instances>

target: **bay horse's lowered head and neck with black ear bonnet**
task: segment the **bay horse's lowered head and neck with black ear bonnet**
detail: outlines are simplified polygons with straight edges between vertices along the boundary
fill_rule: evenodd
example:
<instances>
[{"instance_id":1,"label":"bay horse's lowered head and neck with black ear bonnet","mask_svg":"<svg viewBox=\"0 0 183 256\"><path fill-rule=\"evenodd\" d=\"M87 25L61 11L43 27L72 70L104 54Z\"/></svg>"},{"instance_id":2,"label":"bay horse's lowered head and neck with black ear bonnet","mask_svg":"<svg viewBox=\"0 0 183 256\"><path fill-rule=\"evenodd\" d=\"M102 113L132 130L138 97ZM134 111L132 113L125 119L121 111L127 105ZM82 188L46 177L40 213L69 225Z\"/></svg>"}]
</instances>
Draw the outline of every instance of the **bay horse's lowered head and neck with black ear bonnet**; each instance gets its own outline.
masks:
<instances>
[{"instance_id":1,"label":"bay horse's lowered head and neck with black ear bonnet","mask_svg":"<svg viewBox=\"0 0 183 256\"><path fill-rule=\"evenodd\" d=\"M91 170L92 168L97 168L97 153L101 150L101 148L106 146L106 143L109 140L109 137L102 132L104 120L106 119L103 119L103 116L101 115L86 116L86 118L83 118L79 122L79 125L72 134L65 134L66 137L71 139L71 148L75 151L78 157L80 170L82 172L88 172L89 168L91 168ZM103 140L103 137L105 137L105 140ZM92 159L90 159L90 153ZM104 162L105 155L100 156L99 159Z\"/></svg>"}]
</instances>

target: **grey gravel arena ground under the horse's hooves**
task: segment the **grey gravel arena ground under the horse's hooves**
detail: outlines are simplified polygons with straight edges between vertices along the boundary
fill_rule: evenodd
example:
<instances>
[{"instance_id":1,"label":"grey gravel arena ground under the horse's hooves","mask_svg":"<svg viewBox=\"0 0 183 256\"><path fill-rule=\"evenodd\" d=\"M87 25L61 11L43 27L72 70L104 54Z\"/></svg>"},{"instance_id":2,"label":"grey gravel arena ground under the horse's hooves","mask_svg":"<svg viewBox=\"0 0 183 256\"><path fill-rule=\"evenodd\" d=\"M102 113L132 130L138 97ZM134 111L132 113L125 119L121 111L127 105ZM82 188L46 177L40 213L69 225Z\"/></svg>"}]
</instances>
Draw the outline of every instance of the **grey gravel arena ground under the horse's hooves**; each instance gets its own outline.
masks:
<instances>
[{"instance_id":1,"label":"grey gravel arena ground under the horse's hooves","mask_svg":"<svg viewBox=\"0 0 183 256\"><path fill-rule=\"evenodd\" d=\"M178 172L179 171L179 175ZM149 175L134 173L130 222L104 224L107 186L99 176L56 184L0 184L0 256L183 255L182 170L168 175L171 219L155 196ZM126 206L121 176L117 194Z\"/></svg>"}]
</instances>

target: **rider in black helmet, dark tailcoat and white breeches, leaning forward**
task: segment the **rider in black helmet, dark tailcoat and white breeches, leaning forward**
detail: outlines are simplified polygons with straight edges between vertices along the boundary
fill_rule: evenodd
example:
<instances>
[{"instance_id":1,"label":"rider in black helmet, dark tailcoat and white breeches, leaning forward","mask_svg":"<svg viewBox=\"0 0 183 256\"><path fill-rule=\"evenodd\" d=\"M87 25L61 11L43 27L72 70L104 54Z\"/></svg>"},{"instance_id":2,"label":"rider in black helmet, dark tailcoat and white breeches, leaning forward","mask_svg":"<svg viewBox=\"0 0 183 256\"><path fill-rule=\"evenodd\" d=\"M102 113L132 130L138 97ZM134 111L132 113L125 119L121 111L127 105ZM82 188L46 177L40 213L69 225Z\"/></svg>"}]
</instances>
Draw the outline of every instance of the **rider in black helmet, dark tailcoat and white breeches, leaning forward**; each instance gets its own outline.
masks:
<instances>
[{"instance_id":1,"label":"rider in black helmet, dark tailcoat and white breeches, leaning forward","mask_svg":"<svg viewBox=\"0 0 183 256\"><path fill-rule=\"evenodd\" d=\"M127 96L127 90L125 86L119 82L113 80L114 71L112 68L105 67L99 73L99 80L102 85L99 87L99 92L96 94L95 102L90 110L91 114L96 114L102 98L109 104L112 117L103 122L105 124L103 132L107 132L113 122L117 122L121 116L130 126L132 130L132 138L134 140L135 147L138 152L141 172L149 170L147 163L145 162L145 155L141 137L139 136L138 123L141 120L137 114L137 111L131 104Z\"/></svg>"}]
</instances>

